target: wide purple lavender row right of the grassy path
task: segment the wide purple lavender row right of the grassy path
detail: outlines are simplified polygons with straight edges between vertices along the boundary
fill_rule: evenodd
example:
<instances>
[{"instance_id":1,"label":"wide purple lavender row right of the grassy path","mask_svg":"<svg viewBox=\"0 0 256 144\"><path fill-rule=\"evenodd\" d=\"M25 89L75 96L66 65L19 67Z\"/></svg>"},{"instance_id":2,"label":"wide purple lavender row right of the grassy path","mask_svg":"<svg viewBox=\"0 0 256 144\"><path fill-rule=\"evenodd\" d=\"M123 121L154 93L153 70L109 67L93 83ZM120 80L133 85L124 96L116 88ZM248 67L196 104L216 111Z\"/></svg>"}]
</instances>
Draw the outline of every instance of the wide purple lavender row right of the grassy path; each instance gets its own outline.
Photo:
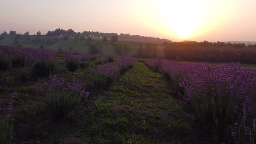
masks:
<instances>
[{"instance_id":1,"label":"wide purple lavender row right of the grassy path","mask_svg":"<svg viewBox=\"0 0 256 144\"><path fill-rule=\"evenodd\" d=\"M241 68L239 63L208 65L165 59L149 61L148 66L169 78L179 95L203 118L214 121L214 131L230 132L226 137L217 135L226 140L231 137L234 142L255 142L255 70Z\"/></svg>"}]
</instances>

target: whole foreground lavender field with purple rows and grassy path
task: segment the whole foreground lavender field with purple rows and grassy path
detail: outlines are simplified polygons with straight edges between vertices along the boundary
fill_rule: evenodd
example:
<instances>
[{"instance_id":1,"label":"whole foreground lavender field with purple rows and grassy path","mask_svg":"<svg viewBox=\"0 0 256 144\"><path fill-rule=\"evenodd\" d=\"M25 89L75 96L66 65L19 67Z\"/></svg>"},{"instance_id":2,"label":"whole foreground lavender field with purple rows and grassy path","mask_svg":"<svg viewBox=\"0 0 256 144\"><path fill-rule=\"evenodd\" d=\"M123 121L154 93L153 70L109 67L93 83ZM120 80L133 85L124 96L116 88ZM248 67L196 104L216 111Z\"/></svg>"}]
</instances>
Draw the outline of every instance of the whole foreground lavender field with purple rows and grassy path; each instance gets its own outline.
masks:
<instances>
[{"instance_id":1,"label":"whole foreground lavender field with purple rows and grassy path","mask_svg":"<svg viewBox=\"0 0 256 144\"><path fill-rule=\"evenodd\" d=\"M1 144L256 142L256 72L242 67L252 65L109 56L111 42L92 55L50 39L0 46Z\"/></svg>"}]
</instances>

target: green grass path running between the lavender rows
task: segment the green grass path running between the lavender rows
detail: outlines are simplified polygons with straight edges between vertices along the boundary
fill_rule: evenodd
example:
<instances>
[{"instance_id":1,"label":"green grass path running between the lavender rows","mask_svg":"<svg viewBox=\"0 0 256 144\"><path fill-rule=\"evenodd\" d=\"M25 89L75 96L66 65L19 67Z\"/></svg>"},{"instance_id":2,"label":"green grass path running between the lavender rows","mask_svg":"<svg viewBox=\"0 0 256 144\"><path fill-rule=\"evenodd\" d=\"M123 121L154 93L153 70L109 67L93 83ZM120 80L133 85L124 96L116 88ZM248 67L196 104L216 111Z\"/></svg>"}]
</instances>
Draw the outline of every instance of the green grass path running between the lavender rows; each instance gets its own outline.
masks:
<instances>
[{"instance_id":1,"label":"green grass path running between the lavender rows","mask_svg":"<svg viewBox=\"0 0 256 144\"><path fill-rule=\"evenodd\" d=\"M135 61L95 99L94 111L84 118L85 137L94 143L187 143L188 124L170 94L159 73Z\"/></svg>"}]
</instances>

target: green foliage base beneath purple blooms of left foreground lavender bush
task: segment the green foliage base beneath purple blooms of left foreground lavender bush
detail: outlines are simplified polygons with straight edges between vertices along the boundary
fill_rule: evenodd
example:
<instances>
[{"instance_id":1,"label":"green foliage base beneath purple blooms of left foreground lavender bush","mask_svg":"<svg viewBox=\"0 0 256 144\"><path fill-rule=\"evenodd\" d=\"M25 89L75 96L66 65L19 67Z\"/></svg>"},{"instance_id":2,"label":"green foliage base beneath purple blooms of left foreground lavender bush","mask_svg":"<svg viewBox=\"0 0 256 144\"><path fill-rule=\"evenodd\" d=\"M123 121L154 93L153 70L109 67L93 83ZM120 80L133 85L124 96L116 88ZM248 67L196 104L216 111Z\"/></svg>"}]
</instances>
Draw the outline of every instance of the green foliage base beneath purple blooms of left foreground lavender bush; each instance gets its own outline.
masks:
<instances>
[{"instance_id":1,"label":"green foliage base beneath purple blooms of left foreground lavender bush","mask_svg":"<svg viewBox=\"0 0 256 144\"><path fill-rule=\"evenodd\" d=\"M79 95L70 92L56 92L49 95L46 108L53 121L59 121L64 119L72 110L78 110L80 101Z\"/></svg>"}]
</instances>

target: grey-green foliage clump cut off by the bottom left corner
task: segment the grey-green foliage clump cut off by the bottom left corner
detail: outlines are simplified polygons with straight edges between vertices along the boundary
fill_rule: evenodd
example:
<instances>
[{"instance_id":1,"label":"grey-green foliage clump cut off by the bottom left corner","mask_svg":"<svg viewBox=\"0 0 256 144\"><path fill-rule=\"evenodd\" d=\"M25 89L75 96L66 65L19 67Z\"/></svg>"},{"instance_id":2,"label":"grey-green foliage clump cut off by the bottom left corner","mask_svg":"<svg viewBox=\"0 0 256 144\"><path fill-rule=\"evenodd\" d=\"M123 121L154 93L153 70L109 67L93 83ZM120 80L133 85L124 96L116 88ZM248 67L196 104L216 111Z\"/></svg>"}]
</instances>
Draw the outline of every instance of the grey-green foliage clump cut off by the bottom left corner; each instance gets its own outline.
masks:
<instances>
[{"instance_id":1,"label":"grey-green foliage clump cut off by the bottom left corner","mask_svg":"<svg viewBox=\"0 0 256 144\"><path fill-rule=\"evenodd\" d=\"M13 135L13 120L10 118L0 119L0 144L10 144Z\"/></svg>"}]
</instances>

